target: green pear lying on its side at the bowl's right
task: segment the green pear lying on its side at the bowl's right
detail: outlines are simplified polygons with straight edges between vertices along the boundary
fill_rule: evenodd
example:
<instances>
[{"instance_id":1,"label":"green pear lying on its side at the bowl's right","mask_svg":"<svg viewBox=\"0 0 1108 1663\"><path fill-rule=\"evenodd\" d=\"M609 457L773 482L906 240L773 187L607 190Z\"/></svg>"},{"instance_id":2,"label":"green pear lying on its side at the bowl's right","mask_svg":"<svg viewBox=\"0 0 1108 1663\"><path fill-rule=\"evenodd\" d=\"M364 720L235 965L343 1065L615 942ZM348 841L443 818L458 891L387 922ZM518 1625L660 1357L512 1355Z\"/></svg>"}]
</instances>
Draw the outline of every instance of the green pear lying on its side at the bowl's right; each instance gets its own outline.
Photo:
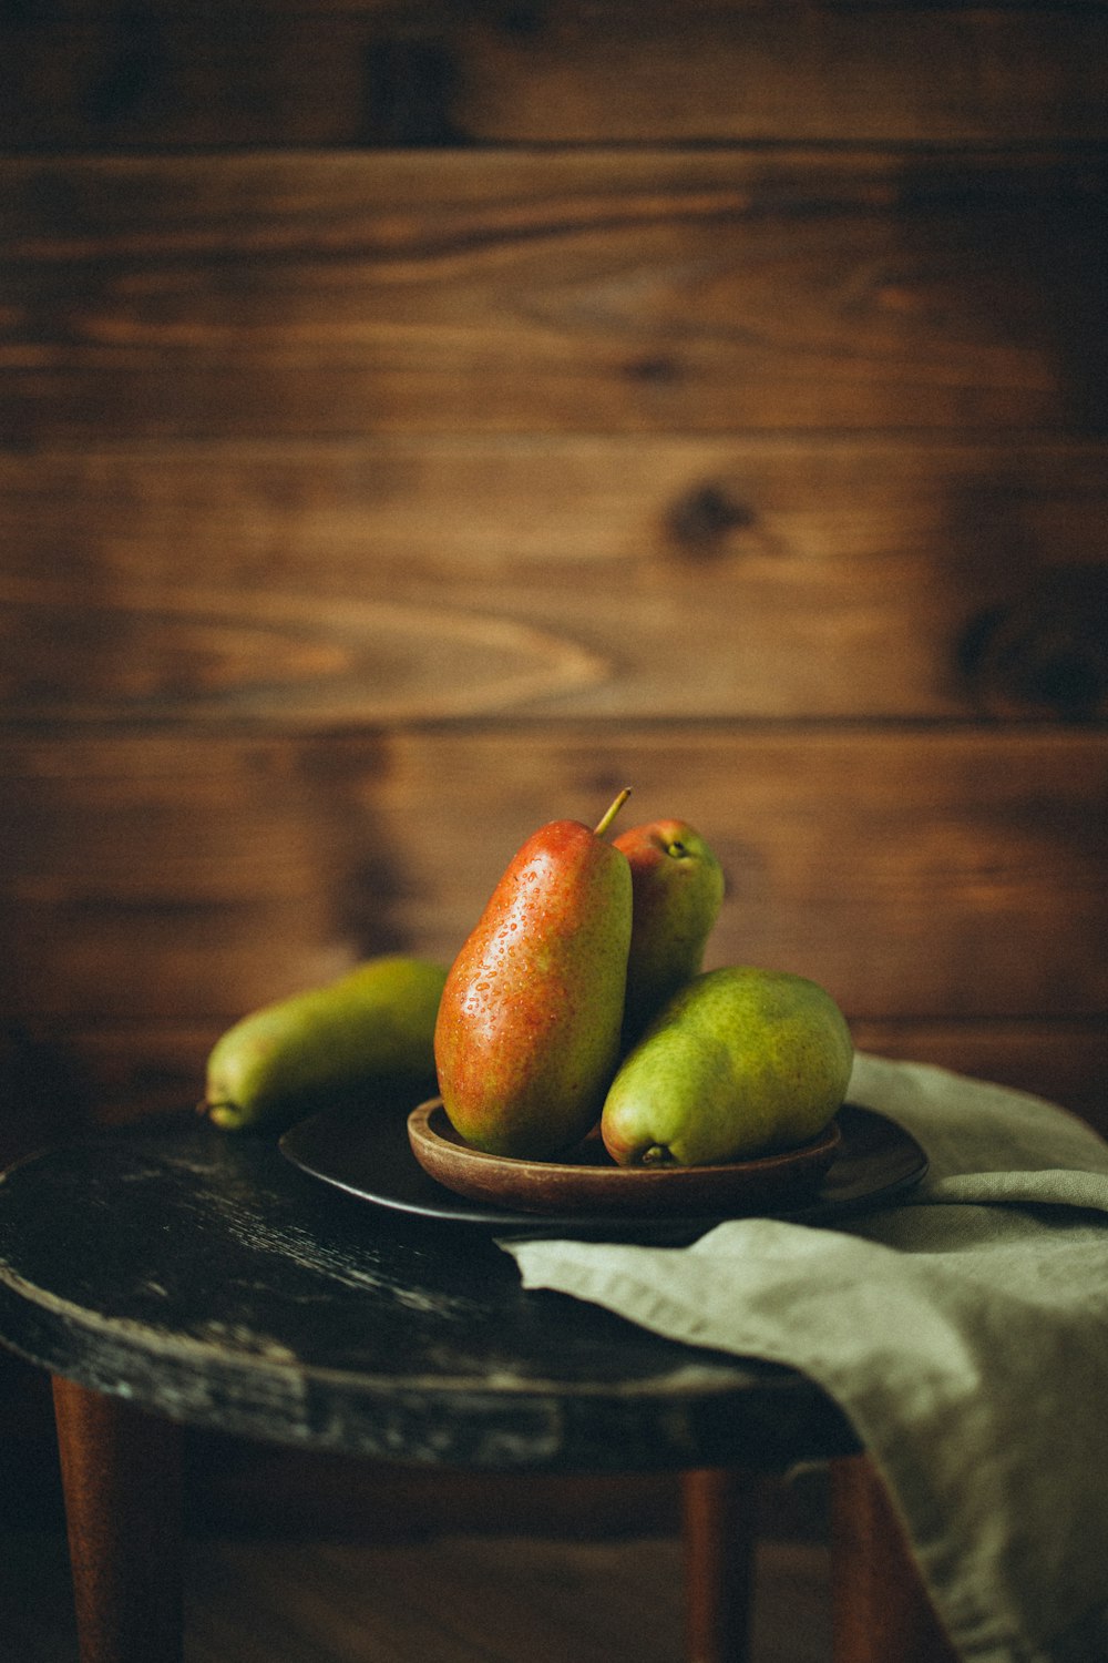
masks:
<instances>
[{"instance_id":1,"label":"green pear lying on its side at the bowl's right","mask_svg":"<svg viewBox=\"0 0 1108 1663\"><path fill-rule=\"evenodd\" d=\"M600 1134L620 1166L713 1166L796 1149L832 1121L854 1044L806 976L736 965L674 993L623 1059Z\"/></svg>"}]
</instances>

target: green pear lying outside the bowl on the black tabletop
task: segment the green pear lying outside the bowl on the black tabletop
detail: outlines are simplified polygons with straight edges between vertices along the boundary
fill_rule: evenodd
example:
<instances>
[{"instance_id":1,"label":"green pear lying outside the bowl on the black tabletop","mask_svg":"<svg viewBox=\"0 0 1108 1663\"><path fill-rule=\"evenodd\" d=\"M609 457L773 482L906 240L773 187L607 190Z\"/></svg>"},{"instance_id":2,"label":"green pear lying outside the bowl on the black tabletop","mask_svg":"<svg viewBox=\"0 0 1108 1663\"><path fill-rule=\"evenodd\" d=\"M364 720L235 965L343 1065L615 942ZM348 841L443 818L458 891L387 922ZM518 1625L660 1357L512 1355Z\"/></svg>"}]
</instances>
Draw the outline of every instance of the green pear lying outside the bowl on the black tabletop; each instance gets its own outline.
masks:
<instances>
[{"instance_id":1,"label":"green pear lying outside the bowl on the black tabletop","mask_svg":"<svg viewBox=\"0 0 1108 1663\"><path fill-rule=\"evenodd\" d=\"M224 1131L287 1126L365 1088L434 1089L444 965L365 960L337 981L264 1004L213 1046L201 1113Z\"/></svg>"}]
</instances>

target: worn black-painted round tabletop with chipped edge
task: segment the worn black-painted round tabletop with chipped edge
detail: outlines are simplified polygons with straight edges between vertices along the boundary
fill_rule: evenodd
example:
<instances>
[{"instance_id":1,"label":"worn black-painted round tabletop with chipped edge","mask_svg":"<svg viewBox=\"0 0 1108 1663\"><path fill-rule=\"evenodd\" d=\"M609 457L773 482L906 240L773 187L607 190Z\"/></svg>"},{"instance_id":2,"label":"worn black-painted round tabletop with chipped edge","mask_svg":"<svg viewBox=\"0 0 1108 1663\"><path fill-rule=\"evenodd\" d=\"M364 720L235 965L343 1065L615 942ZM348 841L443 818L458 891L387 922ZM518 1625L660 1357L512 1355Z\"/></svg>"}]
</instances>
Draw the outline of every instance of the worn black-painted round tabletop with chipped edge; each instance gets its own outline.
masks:
<instances>
[{"instance_id":1,"label":"worn black-painted round tabletop with chipped edge","mask_svg":"<svg viewBox=\"0 0 1108 1663\"><path fill-rule=\"evenodd\" d=\"M791 1370L525 1290L492 1232L369 1206L191 1111L3 1176L0 1340L179 1422L389 1460L772 1468L857 1448Z\"/></svg>"}]
</instances>

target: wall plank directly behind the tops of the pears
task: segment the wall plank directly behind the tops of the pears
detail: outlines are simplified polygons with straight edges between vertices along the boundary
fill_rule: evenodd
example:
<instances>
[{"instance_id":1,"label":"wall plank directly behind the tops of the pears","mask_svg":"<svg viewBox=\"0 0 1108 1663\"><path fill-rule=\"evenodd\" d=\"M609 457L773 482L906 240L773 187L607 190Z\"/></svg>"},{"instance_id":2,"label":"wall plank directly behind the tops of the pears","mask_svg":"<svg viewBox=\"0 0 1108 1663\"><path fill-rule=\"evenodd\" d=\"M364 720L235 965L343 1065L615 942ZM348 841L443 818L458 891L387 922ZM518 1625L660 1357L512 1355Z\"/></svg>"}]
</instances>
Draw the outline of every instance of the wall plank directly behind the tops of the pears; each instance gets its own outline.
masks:
<instances>
[{"instance_id":1,"label":"wall plank directly behind the tops of the pears","mask_svg":"<svg viewBox=\"0 0 1108 1663\"><path fill-rule=\"evenodd\" d=\"M543 822L688 817L729 900L711 958L854 1018L1096 1018L1103 740L1042 728L412 728L297 743L8 742L3 1004L231 1016L395 943L453 956ZM598 808L600 805L600 808Z\"/></svg>"}]
</instances>

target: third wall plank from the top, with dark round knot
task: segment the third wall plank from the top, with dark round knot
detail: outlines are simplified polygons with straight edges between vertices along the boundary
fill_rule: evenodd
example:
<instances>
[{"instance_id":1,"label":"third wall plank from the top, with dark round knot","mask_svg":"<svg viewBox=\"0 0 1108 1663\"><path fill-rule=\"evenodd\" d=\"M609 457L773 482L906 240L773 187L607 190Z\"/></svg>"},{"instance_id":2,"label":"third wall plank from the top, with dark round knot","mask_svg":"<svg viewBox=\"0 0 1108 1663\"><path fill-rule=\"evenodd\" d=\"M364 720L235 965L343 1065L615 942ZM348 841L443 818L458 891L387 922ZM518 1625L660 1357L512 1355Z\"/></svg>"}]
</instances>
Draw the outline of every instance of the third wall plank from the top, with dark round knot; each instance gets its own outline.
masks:
<instances>
[{"instance_id":1,"label":"third wall plank from the top, with dark round knot","mask_svg":"<svg viewBox=\"0 0 1108 1663\"><path fill-rule=\"evenodd\" d=\"M965 717L1007 619L1005 713L1108 713L1106 462L884 436L0 456L5 712Z\"/></svg>"}]
</instances>

